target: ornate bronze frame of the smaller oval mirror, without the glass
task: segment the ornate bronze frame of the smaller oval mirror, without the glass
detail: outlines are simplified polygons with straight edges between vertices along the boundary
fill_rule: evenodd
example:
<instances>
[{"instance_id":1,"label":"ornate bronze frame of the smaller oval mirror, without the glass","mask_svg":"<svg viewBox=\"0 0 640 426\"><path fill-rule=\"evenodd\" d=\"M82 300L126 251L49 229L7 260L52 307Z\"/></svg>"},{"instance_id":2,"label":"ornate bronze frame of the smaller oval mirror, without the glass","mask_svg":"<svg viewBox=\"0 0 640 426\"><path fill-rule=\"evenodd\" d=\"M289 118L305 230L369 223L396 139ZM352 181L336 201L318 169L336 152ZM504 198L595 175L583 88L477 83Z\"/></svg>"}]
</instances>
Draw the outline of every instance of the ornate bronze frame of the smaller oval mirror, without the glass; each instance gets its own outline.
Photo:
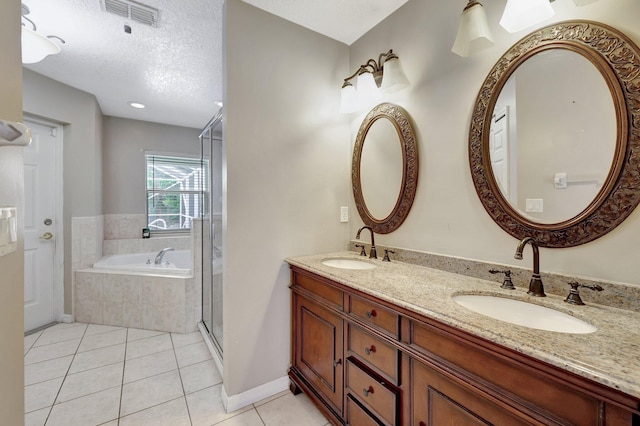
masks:
<instances>
[{"instance_id":1,"label":"ornate bronze frame of the smaller oval mirror, without the glass","mask_svg":"<svg viewBox=\"0 0 640 426\"><path fill-rule=\"evenodd\" d=\"M386 118L395 127L402 150L402 183L396 204L391 213L385 218L374 217L367 208L362 195L360 175L362 148L369 129L381 118ZM378 234L388 234L395 231L404 222L416 195L418 185L418 145L415 132L407 112L400 106L383 103L373 108L362 121L353 148L351 163L351 183L356 208L362 221Z\"/></svg>"}]
</instances>

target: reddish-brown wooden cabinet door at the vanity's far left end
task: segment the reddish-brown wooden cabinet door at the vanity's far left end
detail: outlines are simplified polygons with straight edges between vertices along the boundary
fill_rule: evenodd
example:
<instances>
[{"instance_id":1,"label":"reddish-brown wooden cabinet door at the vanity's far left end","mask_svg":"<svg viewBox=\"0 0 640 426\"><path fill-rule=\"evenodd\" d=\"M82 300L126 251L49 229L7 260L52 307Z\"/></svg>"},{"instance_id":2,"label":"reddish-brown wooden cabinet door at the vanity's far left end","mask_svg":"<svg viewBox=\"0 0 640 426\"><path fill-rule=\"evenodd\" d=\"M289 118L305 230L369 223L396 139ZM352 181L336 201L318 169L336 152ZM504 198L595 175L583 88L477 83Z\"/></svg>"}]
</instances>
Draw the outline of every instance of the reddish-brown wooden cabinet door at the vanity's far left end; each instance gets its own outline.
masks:
<instances>
[{"instance_id":1,"label":"reddish-brown wooden cabinet door at the vanity's far left end","mask_svg":"<svg viewBox=\"0 0 640 426\"><path fill-rule=\"evenodd\" d=\"M296 300L295 367L342 413L342 318L304 297Z\"/></svg>"}]
</instances>

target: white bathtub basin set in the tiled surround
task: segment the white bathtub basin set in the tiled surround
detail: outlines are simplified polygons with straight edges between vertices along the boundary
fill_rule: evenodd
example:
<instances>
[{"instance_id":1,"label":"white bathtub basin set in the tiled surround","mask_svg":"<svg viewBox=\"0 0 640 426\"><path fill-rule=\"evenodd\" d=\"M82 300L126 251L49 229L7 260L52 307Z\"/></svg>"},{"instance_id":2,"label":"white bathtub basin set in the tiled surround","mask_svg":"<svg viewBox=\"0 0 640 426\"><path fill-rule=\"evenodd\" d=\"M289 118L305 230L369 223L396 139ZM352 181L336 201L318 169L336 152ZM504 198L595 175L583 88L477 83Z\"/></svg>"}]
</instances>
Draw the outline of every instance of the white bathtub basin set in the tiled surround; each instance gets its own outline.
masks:
<instances>
[{"instance_id":1,"label":"white bathtub basin set in the tiled surround","mask_svg":"<svg viewBox=\"0 0 640 426\"><path fill-rule=\"evenodd\" d=\"M164 255L160 265L153 263L157 254L157 252L152 252L105 256L93 264L93 269L143 274L191 275L193 269L191 251L169 251Z\"/></svg>"}]
</instances>

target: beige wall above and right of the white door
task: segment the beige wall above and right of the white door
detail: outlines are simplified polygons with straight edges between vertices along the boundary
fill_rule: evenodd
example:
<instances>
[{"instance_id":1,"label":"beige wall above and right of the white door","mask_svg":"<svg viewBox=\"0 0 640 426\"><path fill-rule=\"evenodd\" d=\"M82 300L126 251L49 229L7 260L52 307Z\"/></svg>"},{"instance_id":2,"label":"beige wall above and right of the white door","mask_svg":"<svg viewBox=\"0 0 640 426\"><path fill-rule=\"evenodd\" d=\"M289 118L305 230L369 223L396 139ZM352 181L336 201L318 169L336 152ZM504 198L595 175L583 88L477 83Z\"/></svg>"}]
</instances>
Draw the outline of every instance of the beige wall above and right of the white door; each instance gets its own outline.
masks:
<instances>
[{"instance_id":1,"label":"beige wall above and right of the white door","mask_svg":"<svg viewBox=\"0 0 640 426\"><path fill-rule=\"evenodd\" d=\"M28 69L25 114L62 124L64 311L71 313L71 218L102 215L102 112L95 96Z\"/></svg>"}]
</instances>

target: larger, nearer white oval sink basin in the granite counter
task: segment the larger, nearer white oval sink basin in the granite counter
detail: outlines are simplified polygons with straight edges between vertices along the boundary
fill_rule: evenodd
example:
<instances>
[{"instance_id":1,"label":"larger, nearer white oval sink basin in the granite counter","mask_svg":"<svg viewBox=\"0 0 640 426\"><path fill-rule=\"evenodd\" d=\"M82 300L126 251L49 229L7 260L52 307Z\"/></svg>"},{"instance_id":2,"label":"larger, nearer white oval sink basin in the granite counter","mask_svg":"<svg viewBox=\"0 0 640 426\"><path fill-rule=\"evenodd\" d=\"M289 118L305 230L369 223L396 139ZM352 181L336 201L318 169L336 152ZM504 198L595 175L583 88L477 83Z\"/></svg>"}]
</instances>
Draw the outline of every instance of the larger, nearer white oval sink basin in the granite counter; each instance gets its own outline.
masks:
<instances>
[{"instance_id":1,"label":"larger, nearer white oval sink basin in the granite counter","mask_svg":"<svg viewBox=\"0 0 640 426\"><path fill-rule=\"evenodd\" d=\"M453 300L461 306L511 324L558 333L587 334L596 327L554 309L515 299L486 295L458 295Z\"/></svg>"}]
</instances>

